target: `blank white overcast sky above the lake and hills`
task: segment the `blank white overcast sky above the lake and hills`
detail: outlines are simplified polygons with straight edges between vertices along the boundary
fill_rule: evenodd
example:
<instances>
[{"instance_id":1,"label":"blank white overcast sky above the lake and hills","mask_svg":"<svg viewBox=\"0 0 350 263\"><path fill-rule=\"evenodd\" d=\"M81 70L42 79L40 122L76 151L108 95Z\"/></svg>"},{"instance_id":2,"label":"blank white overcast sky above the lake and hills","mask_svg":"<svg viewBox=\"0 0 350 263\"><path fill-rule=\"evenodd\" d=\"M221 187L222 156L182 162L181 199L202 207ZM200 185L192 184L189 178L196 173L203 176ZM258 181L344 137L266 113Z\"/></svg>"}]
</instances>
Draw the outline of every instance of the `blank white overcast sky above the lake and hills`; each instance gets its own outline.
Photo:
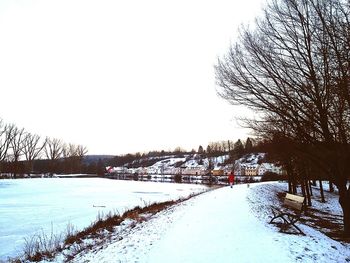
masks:
<instances>
[{"instance_id":1,"label":"blank white overcast sky above the lake and hills","mask_svg":"<svg viewBox=\"0 0 350 263\"><path fill-rule=\"evenodd\" d=\"M1 0L0 117L89 154L245 139L214 65L263 0Z\"/></svg>"}]
</instances>

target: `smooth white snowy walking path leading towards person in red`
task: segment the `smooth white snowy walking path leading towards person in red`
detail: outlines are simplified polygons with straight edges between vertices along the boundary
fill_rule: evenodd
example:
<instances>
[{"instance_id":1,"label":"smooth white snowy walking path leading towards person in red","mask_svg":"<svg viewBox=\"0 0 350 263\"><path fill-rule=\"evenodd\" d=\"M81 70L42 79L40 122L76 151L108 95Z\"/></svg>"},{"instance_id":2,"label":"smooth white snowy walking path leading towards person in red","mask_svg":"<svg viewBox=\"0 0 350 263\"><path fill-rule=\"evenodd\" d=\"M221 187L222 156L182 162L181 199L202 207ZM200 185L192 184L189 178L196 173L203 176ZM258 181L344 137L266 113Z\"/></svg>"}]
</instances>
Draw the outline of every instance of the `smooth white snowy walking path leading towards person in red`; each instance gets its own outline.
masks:
<instances>
[{"instance_id":1,"label":"smooth white snowy walking path leading towards person in red","mask_svg":"<svg viewBox=\"0 0 350 263\"><path fill-rule=\"evenodd\" d=\"M273 239L272 230L267 234L249 211L246 191L245 185L225 187L198 198L151 251L152 262L281 262L290 258Z\"/></svg>"}]
</instances>

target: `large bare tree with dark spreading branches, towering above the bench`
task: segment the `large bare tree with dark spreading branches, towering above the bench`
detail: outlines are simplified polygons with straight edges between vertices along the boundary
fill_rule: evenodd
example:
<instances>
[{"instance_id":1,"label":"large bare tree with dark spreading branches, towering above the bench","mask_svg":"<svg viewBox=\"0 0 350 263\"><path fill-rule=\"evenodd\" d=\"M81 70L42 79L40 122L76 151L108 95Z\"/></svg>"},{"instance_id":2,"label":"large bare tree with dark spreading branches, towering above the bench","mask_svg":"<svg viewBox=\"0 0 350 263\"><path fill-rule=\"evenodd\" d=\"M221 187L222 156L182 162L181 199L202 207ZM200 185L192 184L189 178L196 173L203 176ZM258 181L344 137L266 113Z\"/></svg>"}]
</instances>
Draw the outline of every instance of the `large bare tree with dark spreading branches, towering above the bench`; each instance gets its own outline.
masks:
<instances>
[{"instance_id":1,"label":"large bare tree with dark spreading branches, towering above the bench","mask_svg":"<svg viewBox=\"0 0 350 263\"><path fill-rule=\"evenodd\" d=\"M264 11L219 60L218 93L258 113L248 122L258 135L288 139L303 165L327 173L350 236L349 4L272 0Z\"/></svg>"}]
</instances>

